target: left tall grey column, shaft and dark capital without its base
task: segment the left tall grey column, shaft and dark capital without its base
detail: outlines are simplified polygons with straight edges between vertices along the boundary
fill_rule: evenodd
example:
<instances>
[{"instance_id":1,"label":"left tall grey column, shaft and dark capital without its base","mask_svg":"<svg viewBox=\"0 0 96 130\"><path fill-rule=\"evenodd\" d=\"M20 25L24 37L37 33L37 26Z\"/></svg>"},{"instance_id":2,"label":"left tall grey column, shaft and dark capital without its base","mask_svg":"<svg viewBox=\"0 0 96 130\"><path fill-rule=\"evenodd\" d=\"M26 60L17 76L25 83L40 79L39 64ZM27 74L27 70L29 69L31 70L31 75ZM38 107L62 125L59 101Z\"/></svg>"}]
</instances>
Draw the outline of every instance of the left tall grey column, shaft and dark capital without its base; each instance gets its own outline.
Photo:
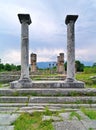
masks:
<instances>
[{"instance_id":1,"label":"left tall grey column, shaft and dark capital without its base","mask_svg":"<svg viewBox=\"0 0 96 130\"><path fill-rule=\"evenodd\" d=\"M29 28L31 18L29 14L18 14L21 23L21 78L29 80Z\"/></svg>"}]
</instances>

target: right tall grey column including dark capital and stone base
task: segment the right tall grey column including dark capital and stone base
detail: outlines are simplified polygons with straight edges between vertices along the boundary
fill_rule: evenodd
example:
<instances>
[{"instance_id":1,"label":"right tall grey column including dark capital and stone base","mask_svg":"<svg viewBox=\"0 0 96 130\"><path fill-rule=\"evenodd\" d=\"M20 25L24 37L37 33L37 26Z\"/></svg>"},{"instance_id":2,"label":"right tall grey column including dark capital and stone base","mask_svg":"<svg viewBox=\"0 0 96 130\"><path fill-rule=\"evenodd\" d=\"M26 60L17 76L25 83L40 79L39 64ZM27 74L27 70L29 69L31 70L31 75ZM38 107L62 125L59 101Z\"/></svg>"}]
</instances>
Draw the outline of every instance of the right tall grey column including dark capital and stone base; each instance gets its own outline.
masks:
<instances>
[{"instance_id":1,"label":"right tall grey column including dark capital and stone base","mask_svg":"<svg viewBox=\"0 0 96 130\"><path fill-rule=\"evenodd\" d=\"M78 15L67 15L65 24L67 25L67 78L64 86L68 88L84 88L82 81L75 79L75 22Z\"/></svg>"}]
</instances>

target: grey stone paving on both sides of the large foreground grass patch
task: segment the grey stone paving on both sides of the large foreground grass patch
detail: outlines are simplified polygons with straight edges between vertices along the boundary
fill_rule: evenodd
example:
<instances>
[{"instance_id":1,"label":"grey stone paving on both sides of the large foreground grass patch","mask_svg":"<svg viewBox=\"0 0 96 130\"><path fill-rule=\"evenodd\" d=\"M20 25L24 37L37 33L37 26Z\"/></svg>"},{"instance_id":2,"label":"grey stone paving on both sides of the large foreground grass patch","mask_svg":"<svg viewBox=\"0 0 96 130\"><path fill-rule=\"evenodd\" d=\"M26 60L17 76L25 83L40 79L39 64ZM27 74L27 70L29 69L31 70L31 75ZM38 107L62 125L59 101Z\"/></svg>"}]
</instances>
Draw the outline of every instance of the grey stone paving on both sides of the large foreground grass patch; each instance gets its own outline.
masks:
<instances>
[{"instance_id":1,"label":"grey stone paving on both sides of the large foreground grass patch","mask_svg":"<svg viewBox=\"0 0 96 130\"><path fill-rule=\"evenodd\" d=\"M70 119L70 112L60 113L58 117L44 116L43 120L54 120L55 130L96 130L96 120L90 120L81 111L77 112L81 119L76 116ZM20 116L20 114L0 113L0 130L14 130L12 123Z\"/></svg>"}]
</instances>

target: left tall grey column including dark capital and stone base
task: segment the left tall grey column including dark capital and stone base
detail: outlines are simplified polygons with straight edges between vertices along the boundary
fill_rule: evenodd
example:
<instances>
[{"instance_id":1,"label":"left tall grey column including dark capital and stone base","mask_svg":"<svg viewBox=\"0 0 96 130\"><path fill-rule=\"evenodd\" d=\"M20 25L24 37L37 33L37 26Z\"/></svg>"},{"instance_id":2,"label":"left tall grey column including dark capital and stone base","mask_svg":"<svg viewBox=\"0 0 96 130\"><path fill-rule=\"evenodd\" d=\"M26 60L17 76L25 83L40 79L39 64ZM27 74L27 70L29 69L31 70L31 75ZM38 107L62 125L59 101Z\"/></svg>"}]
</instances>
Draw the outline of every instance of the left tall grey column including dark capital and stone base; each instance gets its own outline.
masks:
<instances>
[{"instance_id":1,"label":"left tall grey column including dark capital and stone base","mask_svg":"<svg viewBox=\"0 0 96 130\"><path fill-rule=\"evenodd\" d=\"M31 24L29 14L18 14L21 23L21 77L19 81L11 83L11 88L23 88L32 86L32 80L29 78L29 30Z\"/></svg>"}]
</instances>

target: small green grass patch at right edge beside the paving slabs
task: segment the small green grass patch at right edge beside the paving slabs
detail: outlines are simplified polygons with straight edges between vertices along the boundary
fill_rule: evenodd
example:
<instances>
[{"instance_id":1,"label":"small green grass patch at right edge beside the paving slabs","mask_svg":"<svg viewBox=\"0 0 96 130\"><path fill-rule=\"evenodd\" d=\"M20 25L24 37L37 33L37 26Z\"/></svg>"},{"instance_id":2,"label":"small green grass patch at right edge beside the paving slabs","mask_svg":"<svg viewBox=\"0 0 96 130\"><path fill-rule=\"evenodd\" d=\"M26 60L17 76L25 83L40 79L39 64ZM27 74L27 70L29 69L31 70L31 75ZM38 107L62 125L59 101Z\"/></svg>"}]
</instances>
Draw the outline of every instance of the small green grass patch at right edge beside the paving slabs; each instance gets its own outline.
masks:
<instances>
[{"instance_id":1,"label":"small green grass patch at right edge beside the paving slabs","mask_svg":"<svg viewBox=\"0 0 96 130\"><path fill-rule=\"evenodd\" d=\"M81 111L92 120L96 120L96 110L82 108Z\"/></svg>"}]
</instances>

